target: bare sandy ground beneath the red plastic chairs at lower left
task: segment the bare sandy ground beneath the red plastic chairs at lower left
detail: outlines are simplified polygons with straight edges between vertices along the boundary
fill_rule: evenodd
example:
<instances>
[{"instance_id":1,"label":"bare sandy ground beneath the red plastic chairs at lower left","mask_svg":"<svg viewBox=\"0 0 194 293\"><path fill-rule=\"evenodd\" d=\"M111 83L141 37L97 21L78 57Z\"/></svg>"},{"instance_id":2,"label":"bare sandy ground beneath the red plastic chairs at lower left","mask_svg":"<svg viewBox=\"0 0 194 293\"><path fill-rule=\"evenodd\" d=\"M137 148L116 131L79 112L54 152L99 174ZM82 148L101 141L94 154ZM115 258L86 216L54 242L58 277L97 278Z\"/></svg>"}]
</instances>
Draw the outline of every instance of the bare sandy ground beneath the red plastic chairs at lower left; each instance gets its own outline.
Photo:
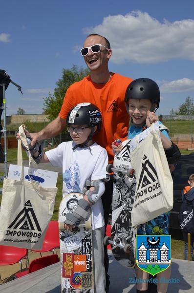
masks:
<instances>
[{"instance_id":1,"label":"bare sandy ground beneath the red plastic chairs at lower left","mask_svg":"<svg viewBox=\"0 0 194 293\"><path fill-rule=\"evenodd\" d=\"M58 254L60 257L60 250L56 249L55 253ZM51 254L51 251L48 252L43 252L42 256ZM41 254L39 252L35 251L28 251L28 258L29 262L31 262L33 259L41 257ZM24 259L22 262L22 271L25 271L26 269L26 260ZM9 265L9 266L0 266L0 277L1 277L1 282L0 285L3 283L6 283L8 281L13 280L13 275L16 272L20 272L20 264L14 264L14 265ZM60 272L59 272L60 273Z\"/></svg>"}]
</instances>

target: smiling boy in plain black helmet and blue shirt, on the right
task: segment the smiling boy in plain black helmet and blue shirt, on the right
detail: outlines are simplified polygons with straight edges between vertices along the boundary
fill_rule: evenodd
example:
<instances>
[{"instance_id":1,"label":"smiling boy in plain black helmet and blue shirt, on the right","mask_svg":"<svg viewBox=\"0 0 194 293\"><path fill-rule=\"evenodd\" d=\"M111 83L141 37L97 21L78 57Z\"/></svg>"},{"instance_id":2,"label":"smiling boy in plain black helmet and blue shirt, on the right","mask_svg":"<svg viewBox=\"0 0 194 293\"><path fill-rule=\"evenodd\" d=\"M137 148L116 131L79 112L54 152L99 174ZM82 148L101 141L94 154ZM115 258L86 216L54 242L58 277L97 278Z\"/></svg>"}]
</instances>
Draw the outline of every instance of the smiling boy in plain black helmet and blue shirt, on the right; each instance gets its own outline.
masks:
<instances>
[{"instance_id":1,"label":"smiling boy in plain black helmet and blue shirt, on the right","mask_svg":"<svg viewBox=\"0 0 194 293\"><path fill-rule=\"evenodd\" d=\"M139 78L132 81L127 87L125 94L125 103L130 117L130 126L128 139L134 138L137 134L150 127L152 123L158 121L155 114L160 104L160 90L158 85L151 79ZM164 147L169 164L176 163L180 158L180 152L176 145L172 143L168 135L168 128L159 121L159 129L162 145ZM112 144L114 152L122 149L122 144L116 146ZM172 167L172 165L170 165ZM138 234L169 234L168 225L169 216L164 213L151 221L138 226ZM148 279L149 274L135 267L137 278ZM170 268L159 273L158 279L163 276L170 277ZM157 284L157 292L166 293L168 283ZM148 283L142 282L137 284L137 293L155 292L153 289L148 290Z\"/></svg>"}]
</instances>

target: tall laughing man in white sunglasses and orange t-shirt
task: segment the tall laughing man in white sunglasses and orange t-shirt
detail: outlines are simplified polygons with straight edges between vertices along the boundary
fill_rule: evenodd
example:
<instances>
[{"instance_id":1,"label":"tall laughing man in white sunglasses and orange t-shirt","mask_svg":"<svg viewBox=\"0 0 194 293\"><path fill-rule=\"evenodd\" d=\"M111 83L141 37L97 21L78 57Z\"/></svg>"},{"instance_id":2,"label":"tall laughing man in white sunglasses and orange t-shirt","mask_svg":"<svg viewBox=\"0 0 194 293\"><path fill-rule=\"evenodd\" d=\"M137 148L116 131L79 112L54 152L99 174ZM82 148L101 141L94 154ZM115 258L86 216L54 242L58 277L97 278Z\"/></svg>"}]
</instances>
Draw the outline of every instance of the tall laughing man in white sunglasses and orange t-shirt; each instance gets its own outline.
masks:
<instances>
[{"instance_id":1,"label":"tall laughing man in white sunglasses and orange t-shirt","mask_svg":"<svg viewBox=\"0 0 194 293\"><path fill-rule=\"evenodd\" d=\"M110 43L105 37L91 34L86 37L84 48L80 50L84 57L90 75L80 82L69 86L66 91L64 103L59 116L38 133L28 133L33 146L36 141L58 135L66 125L66 116L69 110L78 103L90 102L96 105L102 112L103 125L101 131L94 135L94 141L107 149L109 163L113 162L114 154L111 144L115 139L122 141L127 139L129 128L129 115L125 108L125 92L132 81L108 69L108 61L112 55ZM106 182L106 190L102 196L105 227L108 222L108 214L112 201L113 175ZM105 269L108 272L108 254L105 247ZM107 274L108 292L109 280Z\"/></svg>"}]
</instances>

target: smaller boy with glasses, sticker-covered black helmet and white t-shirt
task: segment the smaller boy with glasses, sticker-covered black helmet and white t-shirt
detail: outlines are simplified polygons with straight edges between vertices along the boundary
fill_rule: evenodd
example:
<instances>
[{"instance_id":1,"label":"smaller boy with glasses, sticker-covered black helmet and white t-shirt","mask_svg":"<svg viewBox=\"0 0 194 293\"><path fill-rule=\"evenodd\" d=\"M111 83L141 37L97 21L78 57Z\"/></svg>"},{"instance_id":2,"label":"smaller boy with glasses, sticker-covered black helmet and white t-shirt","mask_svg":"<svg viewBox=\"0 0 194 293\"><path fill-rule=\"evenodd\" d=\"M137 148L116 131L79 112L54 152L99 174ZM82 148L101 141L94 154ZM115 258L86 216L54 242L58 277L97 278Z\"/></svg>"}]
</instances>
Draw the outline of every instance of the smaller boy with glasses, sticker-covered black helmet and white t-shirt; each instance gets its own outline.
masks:
<instances>
[{"instance_id":1,"label":"smaller boy with glasses, sticker-covered black helmet and white t-shirt","mask_svg":"<svg viewBox=\"0 0 194 293\"><path fill-rule=\"evenodd\" d=\"M47 151L42 154L43 159L39 161L63 167L63 196L70 192L83 193L84 197L78 201L77 208L65 215L67 230L72 230L82 220L86 220L90 215L90 208L92 209L94 288L96 293L105 293L105 222L101 195L105 191L105 181L109 180L106 171L108 155L105 148L92 140L93 134L101 129L101 111L90 103L78 104L69 111L66 123L73 141L63 142ZM35 161L39 153L32 153Z\"/></svg>"}]
</instances>

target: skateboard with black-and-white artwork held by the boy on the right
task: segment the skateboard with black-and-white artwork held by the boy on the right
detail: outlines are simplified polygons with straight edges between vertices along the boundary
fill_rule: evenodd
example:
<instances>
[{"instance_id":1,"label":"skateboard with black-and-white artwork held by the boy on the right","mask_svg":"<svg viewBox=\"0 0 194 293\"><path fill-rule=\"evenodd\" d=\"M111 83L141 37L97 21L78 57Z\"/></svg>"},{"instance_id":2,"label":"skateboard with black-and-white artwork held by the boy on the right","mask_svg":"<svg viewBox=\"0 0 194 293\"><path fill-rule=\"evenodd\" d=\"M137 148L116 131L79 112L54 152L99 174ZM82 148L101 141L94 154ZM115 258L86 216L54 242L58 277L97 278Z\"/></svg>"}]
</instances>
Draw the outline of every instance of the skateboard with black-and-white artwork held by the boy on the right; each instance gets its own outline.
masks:
<instances>
[{"instance_id":1,"label":"skateboard with black-and-white artwork held by the boy on the right","mask_svg":"<svg viewBox=\"0 0 194 293\"><path fill-rule=\"evenodd\" d=\"M130 165L130 140L125 140L122 145L122 150L114 156L113 165L107 166L107 171L114 173L114 183L111 236L104 238L104 244L111 245L112 254L121 265L133 268L137 227L131 226L131 210L136 180Z\"/></svg>"}]
</instances>

